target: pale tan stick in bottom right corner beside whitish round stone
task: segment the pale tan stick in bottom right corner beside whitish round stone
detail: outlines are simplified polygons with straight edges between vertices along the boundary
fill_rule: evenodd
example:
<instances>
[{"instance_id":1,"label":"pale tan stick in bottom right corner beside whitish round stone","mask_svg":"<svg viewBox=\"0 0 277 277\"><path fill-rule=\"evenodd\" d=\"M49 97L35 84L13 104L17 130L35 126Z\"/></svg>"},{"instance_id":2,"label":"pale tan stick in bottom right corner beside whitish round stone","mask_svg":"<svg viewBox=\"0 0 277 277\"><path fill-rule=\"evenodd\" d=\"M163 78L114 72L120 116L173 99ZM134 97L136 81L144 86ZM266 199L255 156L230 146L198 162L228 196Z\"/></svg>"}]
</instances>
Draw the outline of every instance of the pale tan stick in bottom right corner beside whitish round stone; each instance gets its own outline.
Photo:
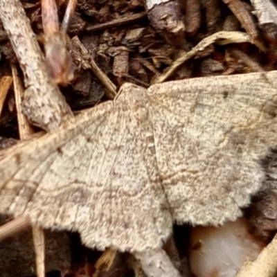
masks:
<instances>
[{"instance_id":1,"label":"pale tan stick in bottom right corner beside whitish round stone","mask_svg":"<svg viewBox=\"0 0 277 277\"><path fill-rule=\"evenodd\" d=\"M244 262L236 277L274 277L277 272L277 235L253 262Z\"/></svg>"}]
</instances>

